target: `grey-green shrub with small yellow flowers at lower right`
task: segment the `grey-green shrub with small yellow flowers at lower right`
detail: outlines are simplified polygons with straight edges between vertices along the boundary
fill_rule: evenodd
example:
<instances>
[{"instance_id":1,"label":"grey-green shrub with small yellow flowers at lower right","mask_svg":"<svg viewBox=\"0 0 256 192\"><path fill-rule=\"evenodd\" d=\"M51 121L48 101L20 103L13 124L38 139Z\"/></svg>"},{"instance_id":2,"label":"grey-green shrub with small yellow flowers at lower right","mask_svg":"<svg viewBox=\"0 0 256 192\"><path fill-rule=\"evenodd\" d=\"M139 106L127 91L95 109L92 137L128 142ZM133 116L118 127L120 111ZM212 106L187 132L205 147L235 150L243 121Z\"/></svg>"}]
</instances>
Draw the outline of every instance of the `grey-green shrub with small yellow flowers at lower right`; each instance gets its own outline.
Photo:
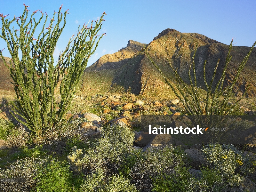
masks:
<instances>
[{"instance_id":1,"label":"grey-green shrub with small yellow flowers at lower right","mask_svg":"<svg viewBox=\"0 0 256 192\"><path fill-rule=\"evenodd\" d=\"M244 177L252 173L252 164L242 151L238 151L233 145L210 144L209 148L203 148L209 168L219 173L230 186L238 186L244 181Z\"/></svg>"}]
</instances>

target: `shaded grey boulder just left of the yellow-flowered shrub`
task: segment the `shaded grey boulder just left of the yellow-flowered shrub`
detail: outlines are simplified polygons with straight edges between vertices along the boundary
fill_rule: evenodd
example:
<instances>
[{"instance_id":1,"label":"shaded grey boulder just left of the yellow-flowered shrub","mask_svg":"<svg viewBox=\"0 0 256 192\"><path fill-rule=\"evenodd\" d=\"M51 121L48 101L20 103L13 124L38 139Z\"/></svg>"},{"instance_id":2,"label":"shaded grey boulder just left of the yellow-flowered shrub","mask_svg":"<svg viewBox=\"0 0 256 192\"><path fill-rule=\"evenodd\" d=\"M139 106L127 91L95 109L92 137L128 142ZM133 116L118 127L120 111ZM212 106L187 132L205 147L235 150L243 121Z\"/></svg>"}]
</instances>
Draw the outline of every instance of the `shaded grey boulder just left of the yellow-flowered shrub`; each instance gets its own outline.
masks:
<instances>
[{"instance_id":1,"label":"shaded grey boulder just left of the yellow-flowered shrub","mask_svg":"<svg viewBox=\"0 0 256 192\"><path fill-rule=\"evenodd\" d=\"M184 151L188 158L191 160L191 166L193 169L199 169L199 165L205 165L206 166L206 159L204 158L204 155L202 151L198 149L186 149Z\"/></svg>"}]
</instances>

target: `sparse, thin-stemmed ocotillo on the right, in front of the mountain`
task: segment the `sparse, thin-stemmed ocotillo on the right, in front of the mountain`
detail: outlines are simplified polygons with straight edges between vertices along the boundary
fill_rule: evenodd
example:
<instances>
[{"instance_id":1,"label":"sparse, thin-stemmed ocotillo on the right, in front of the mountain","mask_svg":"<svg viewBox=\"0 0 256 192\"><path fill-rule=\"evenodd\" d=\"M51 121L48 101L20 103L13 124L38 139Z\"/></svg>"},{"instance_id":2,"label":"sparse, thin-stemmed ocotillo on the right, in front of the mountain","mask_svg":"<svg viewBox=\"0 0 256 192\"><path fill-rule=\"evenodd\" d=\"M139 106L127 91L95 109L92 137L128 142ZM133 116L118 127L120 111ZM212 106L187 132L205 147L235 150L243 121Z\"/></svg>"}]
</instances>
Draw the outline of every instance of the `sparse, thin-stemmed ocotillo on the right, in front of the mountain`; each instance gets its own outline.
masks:
<instances>
[{"instance_id":1,"label":"sparse, thin-stemmed ocotillo on the right, in front of the mountain","mask_svg":"<svg viewBox=\"0 0 256 192\"><path fill-rule=\"evenodd\" d=\"M170 67L172 68L172 71L175 75L177 84L176 87L172 85L167 78L164 76L163 72L160 70L160 68L156 65L156 63L152 60L150 57L149 53L145 51L147 54L149 60L152 62L152 64L157 68L157 70L160 72L160 74L164 77L165 82L172 88L172 91L175 93L175 95L180 99L180 101L183 103L188 115L228 115L232 114L234 112L235 107L237 106L238 102L245 96L246 90L243 94L242 97L240 97L234 105L229 106L228 105L228 100L231 96L232 90L234 88L234 85L236 84L236 81L241 73L241 71L244 68L244 65L246 64L253 47L256 45L255 43L252 45L252 48L248 52L248 54L244 57L244 60L240 63L236 76L233 79L232 83L226 87L224 87L224 79L226 77L226 69L228 67L228 63L230 62L232 56L230 56L230 51L232 48L232 43L233 39L229 45L229 50L228 50L228 55L225 61L224 69L222 71L222 75L214 89L212 89L212 84L215 78L215 74L217 71L217 67L219 64L219 61L217 62L217 65L214 69L214 73L212 75L212 80L210 84L207 84L206 82L206 77L205 77L205 65L206 65L206 60L204 62L204 83L206 86L206 97L203 100L203 104L200 103L200 97L198 95L198 87L196 85L196 70L195 70L195 55L196 55L196 50L197 46L192 58L192 62L190 64L189 70L188 70L188 77L189 77L189 82L190 86L187 85L179 76L177 73L177 70L173 68L171 63L169 62ZM144 48L145 50L145 48ZM190 75L190 70L191 67L193 68L193 73L194 73L194 82L192 81L191 75ZM224 99L220 99L221 96L224 96Z\"/></svg>"}]
</instances>

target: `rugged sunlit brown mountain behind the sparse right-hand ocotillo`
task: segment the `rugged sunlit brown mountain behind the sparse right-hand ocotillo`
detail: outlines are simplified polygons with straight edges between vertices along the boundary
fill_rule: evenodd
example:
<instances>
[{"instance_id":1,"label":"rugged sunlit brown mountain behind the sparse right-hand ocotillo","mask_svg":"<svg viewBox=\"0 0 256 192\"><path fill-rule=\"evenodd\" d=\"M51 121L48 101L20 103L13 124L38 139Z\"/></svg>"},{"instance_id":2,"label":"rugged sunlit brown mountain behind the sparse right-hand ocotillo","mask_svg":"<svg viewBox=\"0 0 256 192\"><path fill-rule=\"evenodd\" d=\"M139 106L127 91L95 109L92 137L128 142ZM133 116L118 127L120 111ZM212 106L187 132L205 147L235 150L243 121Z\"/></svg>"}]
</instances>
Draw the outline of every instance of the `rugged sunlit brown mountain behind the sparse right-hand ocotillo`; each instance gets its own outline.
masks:
<instances>
[{"instance_id":1,"label":"rugged sunlit brown mountain behind the sparse right-hand ocotillo","mask_svg":"<svg viewBox=\"0 0 256 192\"><path fill-rule=\"evenodd\" d=\"M216 79L220 78L221 71L228 52L228 45L210 39L197 33L180 33L174 29L165 29L152 42L147 45L150 56L155 60L164 74L174 81L171 68L166 59L177 68L180 76L188 82L188 68L192 60L195 46L196 74L198 85L204 87L203 64L206 63L207 81L212 78L217 60L220 64ZM164 79L151 64L145 54L136 54L143 44L130 40L126 48L113 54L107 54L97 60L92 66L86 68L82 81L83 93L131 91L135 94L149 96L173 97L173 92L165 84ZM225 85L229 84L236 74L238 65L249 52L250 47L233 46L232 60L226 72ZM136 54L136 55L135 55ZM254 48L238 83L236 94L241 94L250 84L248 96L256 96L256 48ZM216 82L215 82L216 83Z\"/></svg>"}]
</instances>

